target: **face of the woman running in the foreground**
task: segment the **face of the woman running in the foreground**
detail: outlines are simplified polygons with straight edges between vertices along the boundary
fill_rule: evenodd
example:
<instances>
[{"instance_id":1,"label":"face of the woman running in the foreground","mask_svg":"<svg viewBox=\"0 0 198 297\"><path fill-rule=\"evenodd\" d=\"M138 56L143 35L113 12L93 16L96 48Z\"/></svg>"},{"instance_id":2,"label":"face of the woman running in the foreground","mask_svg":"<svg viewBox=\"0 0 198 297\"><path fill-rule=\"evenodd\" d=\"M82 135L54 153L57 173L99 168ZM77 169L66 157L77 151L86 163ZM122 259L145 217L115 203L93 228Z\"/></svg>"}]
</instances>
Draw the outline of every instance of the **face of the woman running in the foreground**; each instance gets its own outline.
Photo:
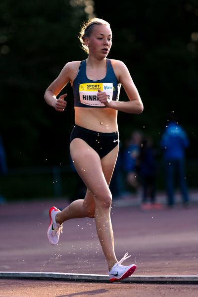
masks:
<instances>
[{"instance_id":1,"label":"face of the woman running in the foreground","mask_svg":"<svg viewBox=\"0 0 198 297\"><path fill-rule=\"evenodd\" d=\"M88 38L89 54L105 58L112 45L112 32L108 26L94 25L93 32Z\"/></svg>"}]
</instances>

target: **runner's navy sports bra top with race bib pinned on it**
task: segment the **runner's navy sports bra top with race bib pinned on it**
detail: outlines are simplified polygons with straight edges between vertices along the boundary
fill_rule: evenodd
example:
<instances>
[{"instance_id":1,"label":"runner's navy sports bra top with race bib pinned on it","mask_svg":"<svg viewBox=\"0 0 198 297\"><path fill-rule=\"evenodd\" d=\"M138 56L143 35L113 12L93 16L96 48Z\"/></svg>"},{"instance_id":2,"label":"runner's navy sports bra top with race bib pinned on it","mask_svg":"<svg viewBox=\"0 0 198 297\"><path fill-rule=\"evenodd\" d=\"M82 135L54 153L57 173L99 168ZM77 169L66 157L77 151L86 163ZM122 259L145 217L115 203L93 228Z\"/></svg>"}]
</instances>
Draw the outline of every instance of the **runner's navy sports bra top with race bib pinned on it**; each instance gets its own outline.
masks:
<instances>
[{"instance_id":1,"label":"runner's navy sports bra top with race bib pinned on it","mask_svg":"<svg viewBox=\"0 0 198 297\"><path fill-rule=\"evenodd\" d=\"M81 61L78 74L73 82L74 106L105 107L98 100L98 89L106 92L108 100L118 101L121 84L118 82L110 59L106 59L106 76L97 81L87 78L86 60Z\"/></svg>"}]
</instances>

